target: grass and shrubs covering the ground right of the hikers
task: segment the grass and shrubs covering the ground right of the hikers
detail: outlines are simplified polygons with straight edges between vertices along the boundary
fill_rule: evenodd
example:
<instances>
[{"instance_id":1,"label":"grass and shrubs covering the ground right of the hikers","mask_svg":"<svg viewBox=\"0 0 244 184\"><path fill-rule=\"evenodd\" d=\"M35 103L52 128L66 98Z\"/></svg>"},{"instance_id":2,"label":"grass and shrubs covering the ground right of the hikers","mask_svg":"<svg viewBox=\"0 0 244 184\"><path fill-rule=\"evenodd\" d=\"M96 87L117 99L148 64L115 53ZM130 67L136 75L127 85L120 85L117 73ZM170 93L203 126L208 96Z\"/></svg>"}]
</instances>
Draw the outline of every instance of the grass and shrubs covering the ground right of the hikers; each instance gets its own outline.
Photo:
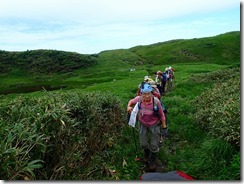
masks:
<instances>
[{"instance_id":1,"label":"grass and shrubs covering the ground right of the hikers","mask_svg":"<svg viewBox=\"0 0 244 184\"><path fill-rule=\"evenodd\" d=\"M171 136L161 153L169 171L198 180L240 179L239 72L234 67L192 76L170 93Z\"/></svg>"}]
</instances>

